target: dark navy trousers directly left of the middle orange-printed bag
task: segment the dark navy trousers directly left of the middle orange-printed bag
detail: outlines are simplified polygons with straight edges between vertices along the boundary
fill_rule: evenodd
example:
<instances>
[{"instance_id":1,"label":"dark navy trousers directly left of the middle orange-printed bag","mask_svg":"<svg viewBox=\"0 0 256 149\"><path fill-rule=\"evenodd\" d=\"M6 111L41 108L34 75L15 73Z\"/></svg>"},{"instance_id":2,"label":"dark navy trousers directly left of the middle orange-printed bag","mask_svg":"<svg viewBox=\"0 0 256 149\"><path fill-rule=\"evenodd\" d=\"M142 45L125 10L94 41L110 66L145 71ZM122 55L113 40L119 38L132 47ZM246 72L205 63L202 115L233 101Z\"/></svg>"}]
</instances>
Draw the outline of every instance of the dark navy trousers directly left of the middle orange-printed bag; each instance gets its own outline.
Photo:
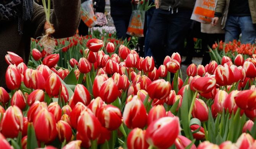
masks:
<instances>
[{"instance_id":1,"label":"dark navy trousers directly left of the middle orange-printed bag","mask_svg":"<svg viewBox=\"0 0 256 149\"><path fill-rule=\"evenodd\" d=\"M112 16L115 29L117 30L117 38L125 40L125 38L129 38L130 36L126 34L130 22L130 16Z\"/></svg>"}]
</instances>

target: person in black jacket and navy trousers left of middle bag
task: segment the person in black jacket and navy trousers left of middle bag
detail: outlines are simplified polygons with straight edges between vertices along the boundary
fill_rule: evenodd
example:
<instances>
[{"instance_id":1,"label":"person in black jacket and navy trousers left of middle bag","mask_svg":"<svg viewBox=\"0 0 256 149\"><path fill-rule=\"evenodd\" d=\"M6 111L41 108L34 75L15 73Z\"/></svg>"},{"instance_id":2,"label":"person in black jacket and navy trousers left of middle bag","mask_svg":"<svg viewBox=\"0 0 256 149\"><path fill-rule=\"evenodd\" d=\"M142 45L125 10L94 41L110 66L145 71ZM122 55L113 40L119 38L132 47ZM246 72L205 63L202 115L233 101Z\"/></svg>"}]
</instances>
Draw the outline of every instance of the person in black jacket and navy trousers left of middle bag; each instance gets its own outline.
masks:
<instances>
[{"instance_id":1,"label":"person in black jacket and navy trousers left of middle bag","mask_svg":"<svg viewBox=\"0 0 256 149\"><path fill-rule=\"evenodd\" d=\"M139 0L134 0L134 5L138 5ZM131 17L131 0L110 0L110 15L113 18L117 38L125 40L130 36L126 34Z\"/></svg>"}]
</instances>

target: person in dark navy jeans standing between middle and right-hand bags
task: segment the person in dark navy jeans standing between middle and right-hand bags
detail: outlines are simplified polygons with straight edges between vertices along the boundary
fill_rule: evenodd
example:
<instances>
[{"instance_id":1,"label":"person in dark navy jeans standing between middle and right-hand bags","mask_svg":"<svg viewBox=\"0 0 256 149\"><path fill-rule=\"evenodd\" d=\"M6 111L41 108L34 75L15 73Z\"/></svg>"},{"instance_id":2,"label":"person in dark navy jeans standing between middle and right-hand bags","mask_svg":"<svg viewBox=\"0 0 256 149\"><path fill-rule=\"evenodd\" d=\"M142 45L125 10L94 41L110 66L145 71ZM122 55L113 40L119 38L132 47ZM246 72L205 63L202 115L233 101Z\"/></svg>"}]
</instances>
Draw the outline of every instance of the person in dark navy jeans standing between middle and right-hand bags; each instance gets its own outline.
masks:
<instances>
[{"instance_id":1,"label":"person in dark navy jeans standing between middle and right-hand bags","mask_svg":"<svg viewBox=\"0 0 256 149\"><path fill-rule=\"evenodd\" d=\"M150 24L149 47L159 67L165 56L180 52L192 24L191 14L196 0L155 0Z\"/></svg>"}]
</instances>

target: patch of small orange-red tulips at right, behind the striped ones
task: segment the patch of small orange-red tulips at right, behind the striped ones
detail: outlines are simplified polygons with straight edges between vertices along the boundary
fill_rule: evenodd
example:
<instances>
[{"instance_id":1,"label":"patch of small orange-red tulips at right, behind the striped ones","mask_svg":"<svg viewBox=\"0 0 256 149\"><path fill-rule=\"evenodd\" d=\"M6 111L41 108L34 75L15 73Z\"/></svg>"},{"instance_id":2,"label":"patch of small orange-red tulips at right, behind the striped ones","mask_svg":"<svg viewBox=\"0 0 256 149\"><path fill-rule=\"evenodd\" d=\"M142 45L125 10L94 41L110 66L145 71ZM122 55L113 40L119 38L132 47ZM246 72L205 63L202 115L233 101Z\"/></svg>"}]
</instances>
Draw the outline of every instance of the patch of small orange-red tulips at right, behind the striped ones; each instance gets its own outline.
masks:
<instances>
[{"instance_id":1,"label":"patch of small orange-red tulips at right, behind the striped ones","mask_svg":"<svg viewBox=\"0 0 256 149\"><path fill-rule=\"evenodd\" d=\"M253 54L256 54L255 44L241 44L240 41L233 40L233 42L225 43L215 42L212 45L212 48L209 48L211 59L216 61L218 64L221 64L223 56L228 56L232 59L232 62L235 61L235 58L238 54L241 54L244 59L251 58Z\"/></svg>"}]
</instances>

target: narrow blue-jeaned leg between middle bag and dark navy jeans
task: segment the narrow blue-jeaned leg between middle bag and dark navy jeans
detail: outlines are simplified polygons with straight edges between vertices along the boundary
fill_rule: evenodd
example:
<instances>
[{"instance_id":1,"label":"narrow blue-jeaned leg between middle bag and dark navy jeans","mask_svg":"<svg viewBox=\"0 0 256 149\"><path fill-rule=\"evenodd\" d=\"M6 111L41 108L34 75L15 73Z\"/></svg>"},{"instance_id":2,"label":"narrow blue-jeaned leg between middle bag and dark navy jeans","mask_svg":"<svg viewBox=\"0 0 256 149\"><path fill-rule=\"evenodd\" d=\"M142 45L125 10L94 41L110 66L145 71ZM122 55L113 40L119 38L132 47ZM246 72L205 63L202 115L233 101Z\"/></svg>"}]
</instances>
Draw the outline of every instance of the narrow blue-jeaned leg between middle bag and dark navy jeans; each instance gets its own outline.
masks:
<instances>
[{"instance_id":1,"label":"narrow blue-jeaned leg between middle bag and dark navy jeans","mask_svg":"<svg viewBox=\"0 0 256 149\"><path fill-rule=\"evenodd\" d=\"M156 10L156 8L150 8L147 11L147 32L146 32L146 38L145 38L145 44L144 44L144 53L145 53L145 57L146 56L153 56L151 49L149 48L149 40L150 40L150 22L152 19L152 16L154 14L154 10Z\"/></svg>"}]
</instances>

